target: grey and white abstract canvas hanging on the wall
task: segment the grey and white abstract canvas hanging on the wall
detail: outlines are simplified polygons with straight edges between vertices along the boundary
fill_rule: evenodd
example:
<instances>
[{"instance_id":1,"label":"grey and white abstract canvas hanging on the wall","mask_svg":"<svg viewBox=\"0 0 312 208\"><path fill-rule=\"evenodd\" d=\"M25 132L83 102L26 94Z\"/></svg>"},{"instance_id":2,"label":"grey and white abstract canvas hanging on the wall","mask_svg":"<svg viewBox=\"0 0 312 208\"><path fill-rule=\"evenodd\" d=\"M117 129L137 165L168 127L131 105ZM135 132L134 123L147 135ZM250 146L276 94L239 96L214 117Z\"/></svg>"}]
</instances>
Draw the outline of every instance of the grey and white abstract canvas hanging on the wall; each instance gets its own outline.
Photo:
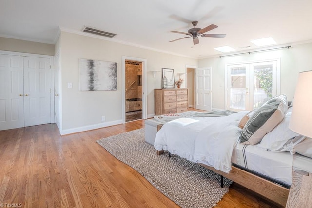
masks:
<instances>
[{"instance_id":1,"label":"grey and white abstract canvas hanging on the wall","mask_svg":"<svg viewBox=\"0 0 312 208\"><path fill-rule=\"evenodd\" d=\"M79 58L80 91L117 90L117 63Z\"/></svg>"}]
</instances>

